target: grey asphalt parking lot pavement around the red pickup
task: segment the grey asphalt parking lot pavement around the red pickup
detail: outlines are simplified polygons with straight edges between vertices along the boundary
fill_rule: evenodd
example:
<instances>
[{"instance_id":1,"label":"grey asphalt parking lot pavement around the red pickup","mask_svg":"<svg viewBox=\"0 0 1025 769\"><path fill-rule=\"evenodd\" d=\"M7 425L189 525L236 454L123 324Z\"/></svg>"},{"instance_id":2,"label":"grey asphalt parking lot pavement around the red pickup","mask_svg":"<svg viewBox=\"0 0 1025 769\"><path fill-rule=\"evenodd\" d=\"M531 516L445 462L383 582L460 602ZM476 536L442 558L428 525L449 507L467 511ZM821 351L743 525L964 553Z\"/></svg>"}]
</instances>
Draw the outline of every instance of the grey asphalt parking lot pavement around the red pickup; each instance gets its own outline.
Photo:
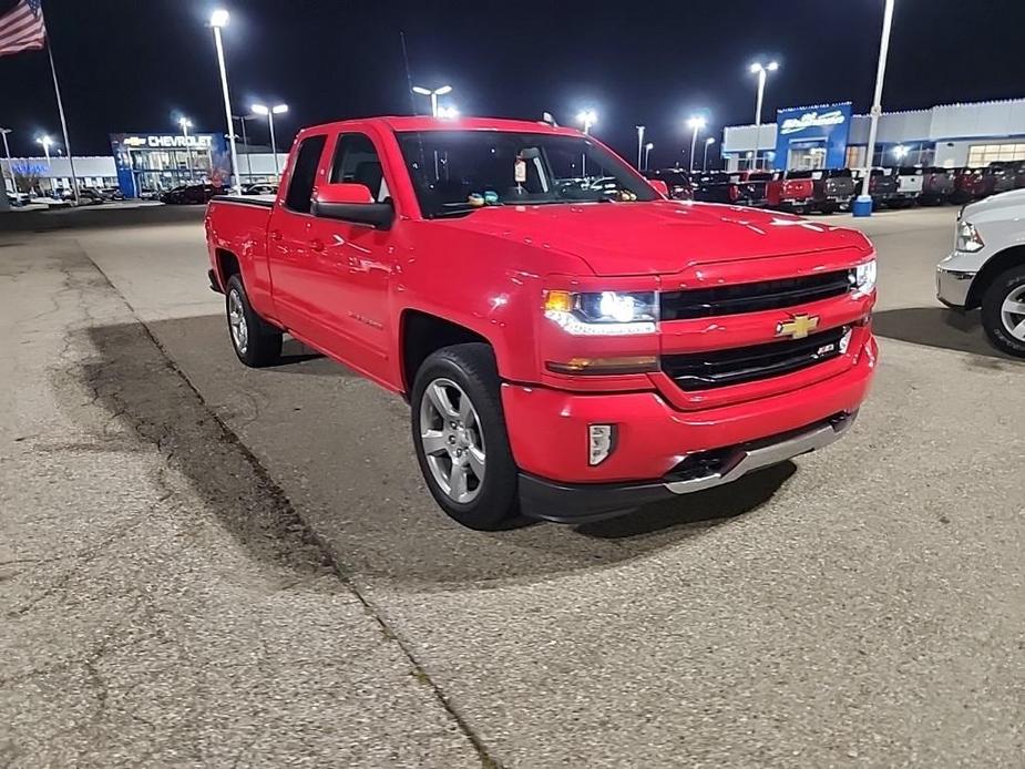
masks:
<instances>
[{"instance_id":1,"label":"grey asphalt parking lot pavement around the red pickup","mask_svg":"<svg viewBox=\"0 0 1025 769\"><path fill-rule=\"evenodd\" d=\"M1025 365L934 298L955 214L858 224L843 441L501 533L399 399L237 363L198 223L0 235L0 765L1021 767Z\"/></svg>"}]
</instances>

